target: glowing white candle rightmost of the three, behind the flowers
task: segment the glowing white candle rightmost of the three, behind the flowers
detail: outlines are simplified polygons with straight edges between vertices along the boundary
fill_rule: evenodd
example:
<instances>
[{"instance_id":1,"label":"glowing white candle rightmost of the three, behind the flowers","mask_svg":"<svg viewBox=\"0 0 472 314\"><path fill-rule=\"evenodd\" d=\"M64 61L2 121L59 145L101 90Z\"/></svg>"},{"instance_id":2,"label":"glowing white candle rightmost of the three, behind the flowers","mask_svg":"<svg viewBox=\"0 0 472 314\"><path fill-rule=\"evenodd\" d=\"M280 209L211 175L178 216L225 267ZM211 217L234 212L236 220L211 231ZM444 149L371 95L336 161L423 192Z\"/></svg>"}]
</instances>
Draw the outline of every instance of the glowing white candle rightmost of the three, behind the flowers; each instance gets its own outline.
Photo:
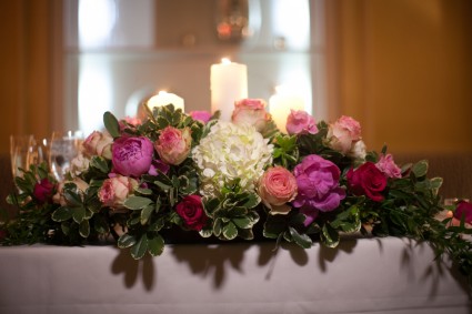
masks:
<instances>
[{"instance_id":1,"label":"glowing white candle rightmost of the three, behind the flowers","mask_svg":"<svg viewBox=\"0 0 472 314\"><path fill-rule=\"evenodd\" d=\"M289 92L281 87L275 88L275 94L269 99L269 112L272 115L277 128L283 133L287 132L287 118L290 110L304 110L304 101L301 97Z\"/></svg>"}]
</instances>

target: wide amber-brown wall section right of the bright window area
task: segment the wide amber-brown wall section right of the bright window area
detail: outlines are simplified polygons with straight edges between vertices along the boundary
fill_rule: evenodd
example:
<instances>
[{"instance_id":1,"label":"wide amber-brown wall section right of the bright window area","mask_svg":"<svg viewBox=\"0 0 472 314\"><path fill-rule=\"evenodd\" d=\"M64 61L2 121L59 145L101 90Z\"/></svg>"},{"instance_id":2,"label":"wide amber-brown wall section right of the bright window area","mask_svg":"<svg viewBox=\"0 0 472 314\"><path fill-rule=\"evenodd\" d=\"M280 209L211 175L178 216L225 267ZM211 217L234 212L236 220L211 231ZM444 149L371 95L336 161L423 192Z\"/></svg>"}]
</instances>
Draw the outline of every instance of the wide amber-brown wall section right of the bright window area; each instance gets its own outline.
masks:
<instances>
[{"instance_id":1,"label":"wide amber-brown wall section right of the bright window area","mask_svg":"<svg viewBox=\"0 0 472 314\"><path fill-rule=\"evenodd\" d=\"M356 118L372 150L472 152L472 1L335 0L328 14L332 115Z\"/></svg>"}]
</instances>

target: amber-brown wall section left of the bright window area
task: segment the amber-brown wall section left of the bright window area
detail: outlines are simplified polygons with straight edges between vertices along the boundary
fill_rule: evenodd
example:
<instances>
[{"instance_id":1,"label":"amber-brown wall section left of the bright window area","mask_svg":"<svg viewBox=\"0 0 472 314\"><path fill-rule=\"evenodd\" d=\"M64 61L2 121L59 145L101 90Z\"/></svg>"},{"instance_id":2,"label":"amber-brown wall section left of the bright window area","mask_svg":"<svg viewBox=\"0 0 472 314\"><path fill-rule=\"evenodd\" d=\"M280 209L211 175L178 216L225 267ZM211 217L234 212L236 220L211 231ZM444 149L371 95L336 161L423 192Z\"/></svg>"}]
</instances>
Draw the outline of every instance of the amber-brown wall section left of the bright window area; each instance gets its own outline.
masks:
<instances>
[{"instance_id":1,"label":"amber-brown wall section left of the bright window area","mask_svg":"<svg viewBox=\"0 0 472 314\"><path fill-rule=\"evenodd\" d=\"M61 126L61 17L60 0L0 1L2 154L10 134L42 139Z\"/></svg>"}]
</instances>

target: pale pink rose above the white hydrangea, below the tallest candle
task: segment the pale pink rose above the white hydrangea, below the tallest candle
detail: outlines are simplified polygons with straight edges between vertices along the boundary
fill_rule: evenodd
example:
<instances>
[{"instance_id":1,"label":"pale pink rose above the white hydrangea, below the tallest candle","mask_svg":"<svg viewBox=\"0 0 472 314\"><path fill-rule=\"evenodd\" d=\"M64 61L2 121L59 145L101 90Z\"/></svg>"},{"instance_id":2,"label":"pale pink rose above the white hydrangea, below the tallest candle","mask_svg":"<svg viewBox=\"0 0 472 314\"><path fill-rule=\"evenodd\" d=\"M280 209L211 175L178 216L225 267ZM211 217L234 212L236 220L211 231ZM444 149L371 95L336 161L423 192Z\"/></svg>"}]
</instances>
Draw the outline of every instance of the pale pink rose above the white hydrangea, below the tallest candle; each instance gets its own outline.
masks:
<instances>
[{"instance_id":1,"label":"pale pink rose above the white hydrangea, below the tallest candle","mask_svg":"<svg viewBox=\"0 0 472 314\"><path fill-rule=\"evenodd\" d=\"M234 124L247 123L261 132L264 130L271 115L265 111L265 102L261 99L243 99L234 103L231 121Z\"/></svg>"}]
</instances>

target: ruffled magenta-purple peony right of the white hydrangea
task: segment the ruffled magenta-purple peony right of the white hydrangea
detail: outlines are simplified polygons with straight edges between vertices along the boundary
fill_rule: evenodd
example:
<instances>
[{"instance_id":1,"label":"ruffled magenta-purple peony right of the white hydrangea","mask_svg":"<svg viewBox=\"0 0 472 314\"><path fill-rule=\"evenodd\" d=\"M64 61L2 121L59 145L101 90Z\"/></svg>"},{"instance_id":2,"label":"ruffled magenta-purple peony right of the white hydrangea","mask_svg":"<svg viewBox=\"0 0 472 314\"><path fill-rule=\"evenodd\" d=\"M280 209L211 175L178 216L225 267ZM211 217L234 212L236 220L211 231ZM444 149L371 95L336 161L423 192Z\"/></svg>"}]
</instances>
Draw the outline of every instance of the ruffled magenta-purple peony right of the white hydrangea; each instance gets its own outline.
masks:
<instances>
[{"instance_id":1,"label":"ruffled magenta-purple peony right of the white hydrangea","mask_svg":"<svg viewBox=\"0 0 472 314\"><path fill-rule=\"evenodd\" d=\"M345 197L344 189L339 186L341 171L329 160L315 154L308 155L293 173L298 194L292 204L307 216L305 225L318 216L319 211L333 211Z\"/></svg>"}]
</instances>

